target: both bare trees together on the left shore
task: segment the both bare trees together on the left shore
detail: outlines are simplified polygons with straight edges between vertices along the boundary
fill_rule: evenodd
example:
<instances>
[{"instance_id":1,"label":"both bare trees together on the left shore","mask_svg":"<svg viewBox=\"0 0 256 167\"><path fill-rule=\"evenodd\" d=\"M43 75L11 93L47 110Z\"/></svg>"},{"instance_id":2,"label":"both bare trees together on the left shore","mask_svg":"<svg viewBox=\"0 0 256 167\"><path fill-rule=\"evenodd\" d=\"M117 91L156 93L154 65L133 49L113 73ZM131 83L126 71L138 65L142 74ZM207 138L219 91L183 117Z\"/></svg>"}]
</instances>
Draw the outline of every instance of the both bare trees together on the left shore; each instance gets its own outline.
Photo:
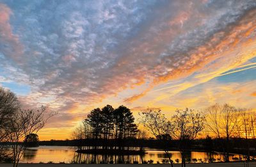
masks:
<instances>
[{"instance_id":1,"label":"both bare trees together on the left shore","mask_svg":"<svg viewBox=\"0 0 256 167\"><path fill-rule=\"evenodd\" d=\"M0 88L0 161L11 159L13 166L18 166L31 134L36 134L56 115L45 116L45 111L44 106L37 110L22 109L14 93Z\"/></svg>"}]
</instances>

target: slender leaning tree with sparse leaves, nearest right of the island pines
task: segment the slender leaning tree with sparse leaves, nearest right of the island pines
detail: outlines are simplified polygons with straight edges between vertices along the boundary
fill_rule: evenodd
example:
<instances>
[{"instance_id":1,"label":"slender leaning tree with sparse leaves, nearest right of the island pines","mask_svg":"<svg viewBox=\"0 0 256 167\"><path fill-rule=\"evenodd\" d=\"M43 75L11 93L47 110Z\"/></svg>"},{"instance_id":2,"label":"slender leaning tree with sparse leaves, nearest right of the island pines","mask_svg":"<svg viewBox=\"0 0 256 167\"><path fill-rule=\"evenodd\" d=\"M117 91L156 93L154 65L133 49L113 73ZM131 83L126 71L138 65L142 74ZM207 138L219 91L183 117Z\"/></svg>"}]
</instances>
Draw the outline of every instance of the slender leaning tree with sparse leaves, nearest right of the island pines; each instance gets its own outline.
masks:
<instances>
[{"instance_id":1,"label":"slender leaning tree with sparse leaves, nearest right of the island pines","mask_svg":"<svg viewBox=\"0 0 256 167\"><path fill-rule=\"evenodd\" d=\"M172 123L167 120L160 109L146 109L140 114L140 123L143 123L144 127L154 135L156 139L164 144L164 152L168 155L168 159L173 166L171 155L168 150L168 145L172 141L173 127ZM165 138L164 136L170 136L170 138Z\"/></svg>"}]
</instances>

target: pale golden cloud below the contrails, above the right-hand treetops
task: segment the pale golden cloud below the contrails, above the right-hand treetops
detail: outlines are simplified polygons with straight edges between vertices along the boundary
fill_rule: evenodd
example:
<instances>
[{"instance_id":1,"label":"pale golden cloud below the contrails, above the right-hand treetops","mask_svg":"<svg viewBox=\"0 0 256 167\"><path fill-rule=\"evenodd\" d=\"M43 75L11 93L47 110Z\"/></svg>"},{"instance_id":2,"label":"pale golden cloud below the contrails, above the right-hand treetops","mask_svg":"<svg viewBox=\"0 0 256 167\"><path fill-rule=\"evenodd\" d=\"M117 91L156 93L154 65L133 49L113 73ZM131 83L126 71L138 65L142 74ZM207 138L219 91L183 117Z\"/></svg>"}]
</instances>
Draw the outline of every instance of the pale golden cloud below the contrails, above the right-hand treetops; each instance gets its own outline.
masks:
<instances>
[{"instance_id":1,"label":"pale golden cloud below the contrails, above the right-hand treetops","mask_svg":"<svg viewBox=\"0 0 256 167\"><path fill-rule=\"evenodd\" d=\"M204 109L215 103L228 103L236 107L255 108L255 99L248 92L255 89L255 81L245 83L204 83L173 97L170 105ZM195 98L196 97L196 98ZM207 100L206 100L207 99Z\"/></svg>"}]
</instances>

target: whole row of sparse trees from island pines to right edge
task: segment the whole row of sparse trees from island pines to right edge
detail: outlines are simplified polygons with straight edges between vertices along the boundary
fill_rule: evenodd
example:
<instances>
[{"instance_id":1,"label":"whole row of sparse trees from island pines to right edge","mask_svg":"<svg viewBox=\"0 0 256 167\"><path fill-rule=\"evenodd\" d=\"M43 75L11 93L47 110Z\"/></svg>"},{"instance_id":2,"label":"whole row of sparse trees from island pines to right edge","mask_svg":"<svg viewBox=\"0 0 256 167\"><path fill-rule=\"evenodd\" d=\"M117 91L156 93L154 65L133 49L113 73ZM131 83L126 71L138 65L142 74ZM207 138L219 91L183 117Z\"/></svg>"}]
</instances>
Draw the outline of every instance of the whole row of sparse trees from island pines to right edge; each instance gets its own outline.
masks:
<instances>
[{"instance_id":1,"label":"whole row of sparse trees from island pines to right edge","mask_svg":"<svg viewBox=\"0 0 256 167\"><path fill-rule=\"evenodd\" d=\"M250 109L237 108L228 104L214 104L204 111L193 109L177 109L170 118L161 113L160 109L147 109L141 114L140 123L156 139L166 143L165 152L172 164L168 152L170 143L179 143L182 155L182 166L186 166L185 150L189 150L192 141L198 138L200 132L207 134L207 139L214 138L220 143L221 151L225 153L225 161L229 161L231 139L245 141L243 154L246 154L246 166L250 161L250 139L255 139L256 116ZM202 136L201 136L202 137ZM244 142L243 142L244 143Z\"/></svg>"}]
</instances>

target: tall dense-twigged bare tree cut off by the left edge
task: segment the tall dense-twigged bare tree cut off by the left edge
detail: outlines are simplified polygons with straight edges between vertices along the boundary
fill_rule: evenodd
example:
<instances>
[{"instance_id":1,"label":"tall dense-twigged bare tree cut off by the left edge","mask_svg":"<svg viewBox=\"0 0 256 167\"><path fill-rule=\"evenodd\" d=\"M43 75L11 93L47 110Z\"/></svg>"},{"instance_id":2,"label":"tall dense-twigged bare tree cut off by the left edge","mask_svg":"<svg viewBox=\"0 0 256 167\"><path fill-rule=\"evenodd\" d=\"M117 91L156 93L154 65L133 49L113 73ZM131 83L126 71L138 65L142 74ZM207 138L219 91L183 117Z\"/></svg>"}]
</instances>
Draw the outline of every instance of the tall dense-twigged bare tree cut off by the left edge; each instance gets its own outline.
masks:
<instances>
[{"instance_id":1,"label":"tall dense-twigged bare tree cut off by the left edge","mask_svg":"<svg viewBox=\"0 0 256 167\"><path fill-rule=\"evenodd\" d=\"M19 107L20 103L15 94L9 90L0 88L0 161L5 161L12 155L8 151L8 147L3 144L6 142L4 127L10 123L9 118L19 110Z\"/></svg>"}]
</instances>

